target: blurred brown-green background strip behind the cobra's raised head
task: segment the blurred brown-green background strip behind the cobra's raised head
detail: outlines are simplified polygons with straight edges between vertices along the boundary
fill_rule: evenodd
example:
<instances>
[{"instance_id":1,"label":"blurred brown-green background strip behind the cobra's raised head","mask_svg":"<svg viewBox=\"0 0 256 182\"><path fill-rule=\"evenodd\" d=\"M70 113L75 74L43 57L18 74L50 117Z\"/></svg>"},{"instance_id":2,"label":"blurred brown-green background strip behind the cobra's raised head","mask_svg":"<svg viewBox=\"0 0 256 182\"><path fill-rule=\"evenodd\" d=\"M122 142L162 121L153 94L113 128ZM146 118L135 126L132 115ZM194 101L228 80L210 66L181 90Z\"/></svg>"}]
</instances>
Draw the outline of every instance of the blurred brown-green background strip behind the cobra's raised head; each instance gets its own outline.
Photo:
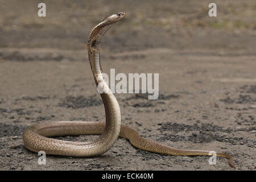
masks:
<instances>
[{"instance_id":1,"label":"blurred brown-green background strip behind the cobra's raised head","mask_svg":"<svg viewBox=\"0 0 256 182\"><path fill-rule=\"evenodd\" d=\"M1 48L84 49L89 32L105 16L126 12L108 32L105 48L131 50L246 49L255 51L255 1L226 0L209 17L212 1L0 1Z\"/></svg>"}]
</instances>

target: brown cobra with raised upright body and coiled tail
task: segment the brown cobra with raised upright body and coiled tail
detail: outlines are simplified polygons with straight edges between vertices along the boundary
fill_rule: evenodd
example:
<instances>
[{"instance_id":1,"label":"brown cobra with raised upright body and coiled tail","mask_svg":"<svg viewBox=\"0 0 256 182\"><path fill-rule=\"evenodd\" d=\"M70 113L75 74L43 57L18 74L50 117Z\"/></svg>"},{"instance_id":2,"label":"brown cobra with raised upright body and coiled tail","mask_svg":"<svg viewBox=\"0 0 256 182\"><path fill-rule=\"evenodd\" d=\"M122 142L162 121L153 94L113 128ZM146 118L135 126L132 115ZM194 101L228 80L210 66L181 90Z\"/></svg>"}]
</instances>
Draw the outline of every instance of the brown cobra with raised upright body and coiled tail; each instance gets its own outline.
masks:
<instances>
[{"instance_id":1,"label":"brown cobra with raised upright body and coiled tail","mask_svg":"<svg viewBox=\"0 0 256 182\"><path fill-rule=\"evenodd\" d=\"M125 16L125 13L117 13L106 17L101 23L90 32L88 42L88 55L90 67L96 85L100 84L104 91L109 91L108 85L102 76L100 64L100 44L101 39L113 25ZM121 125L121 112L117 100L113 93L101 93L101 98L105 107L106 122L85 122L85 121L53 121L43 122L27 128L23 134L24 145L28 150L46 154L64 156L97 156L108 151L119 137L130 140L133 146L150 152L158 152L170 155L209 155L209 151L204 150L180 150L160 143L142 138L137 131L129 126ZM57 140L54 136L64 135L84 135L101 134L92 142L71 142ZM232 164L232 156L216 152L217 156L229 159Z\"/></svg>"}]
</instances>

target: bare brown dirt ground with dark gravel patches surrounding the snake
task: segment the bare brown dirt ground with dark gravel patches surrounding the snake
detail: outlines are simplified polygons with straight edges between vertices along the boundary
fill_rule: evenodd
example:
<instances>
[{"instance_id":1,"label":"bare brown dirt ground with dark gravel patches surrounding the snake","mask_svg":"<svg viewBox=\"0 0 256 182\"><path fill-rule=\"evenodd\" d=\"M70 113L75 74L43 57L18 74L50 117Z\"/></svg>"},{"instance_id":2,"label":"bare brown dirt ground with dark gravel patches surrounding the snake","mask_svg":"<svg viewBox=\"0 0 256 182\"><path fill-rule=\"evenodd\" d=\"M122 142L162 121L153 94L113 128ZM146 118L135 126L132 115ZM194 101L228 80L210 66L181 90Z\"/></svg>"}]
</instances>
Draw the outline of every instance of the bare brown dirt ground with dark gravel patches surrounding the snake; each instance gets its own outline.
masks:
<instances>
[{"instance_id":1,"label":"bare brown dirt ground with dark gravel patches surrounding the snake","mask_svg":"<svg viewBox=\"0 0 256 182\"><path fill-rule=\"evenodd\" d=\"M115 94L122 123L168 146L227 152L238 170L256 169L255 1L0 0L1 170L235 170L225 158L138 150L119 138L94 158L28 151L23 131L44 121L104 121L90 71L90 30L118 11L127 16L102 42L106 73L159 73L159 99ZM85 141L97 136L67 136Z\"/></svg>"}]
</instances>

